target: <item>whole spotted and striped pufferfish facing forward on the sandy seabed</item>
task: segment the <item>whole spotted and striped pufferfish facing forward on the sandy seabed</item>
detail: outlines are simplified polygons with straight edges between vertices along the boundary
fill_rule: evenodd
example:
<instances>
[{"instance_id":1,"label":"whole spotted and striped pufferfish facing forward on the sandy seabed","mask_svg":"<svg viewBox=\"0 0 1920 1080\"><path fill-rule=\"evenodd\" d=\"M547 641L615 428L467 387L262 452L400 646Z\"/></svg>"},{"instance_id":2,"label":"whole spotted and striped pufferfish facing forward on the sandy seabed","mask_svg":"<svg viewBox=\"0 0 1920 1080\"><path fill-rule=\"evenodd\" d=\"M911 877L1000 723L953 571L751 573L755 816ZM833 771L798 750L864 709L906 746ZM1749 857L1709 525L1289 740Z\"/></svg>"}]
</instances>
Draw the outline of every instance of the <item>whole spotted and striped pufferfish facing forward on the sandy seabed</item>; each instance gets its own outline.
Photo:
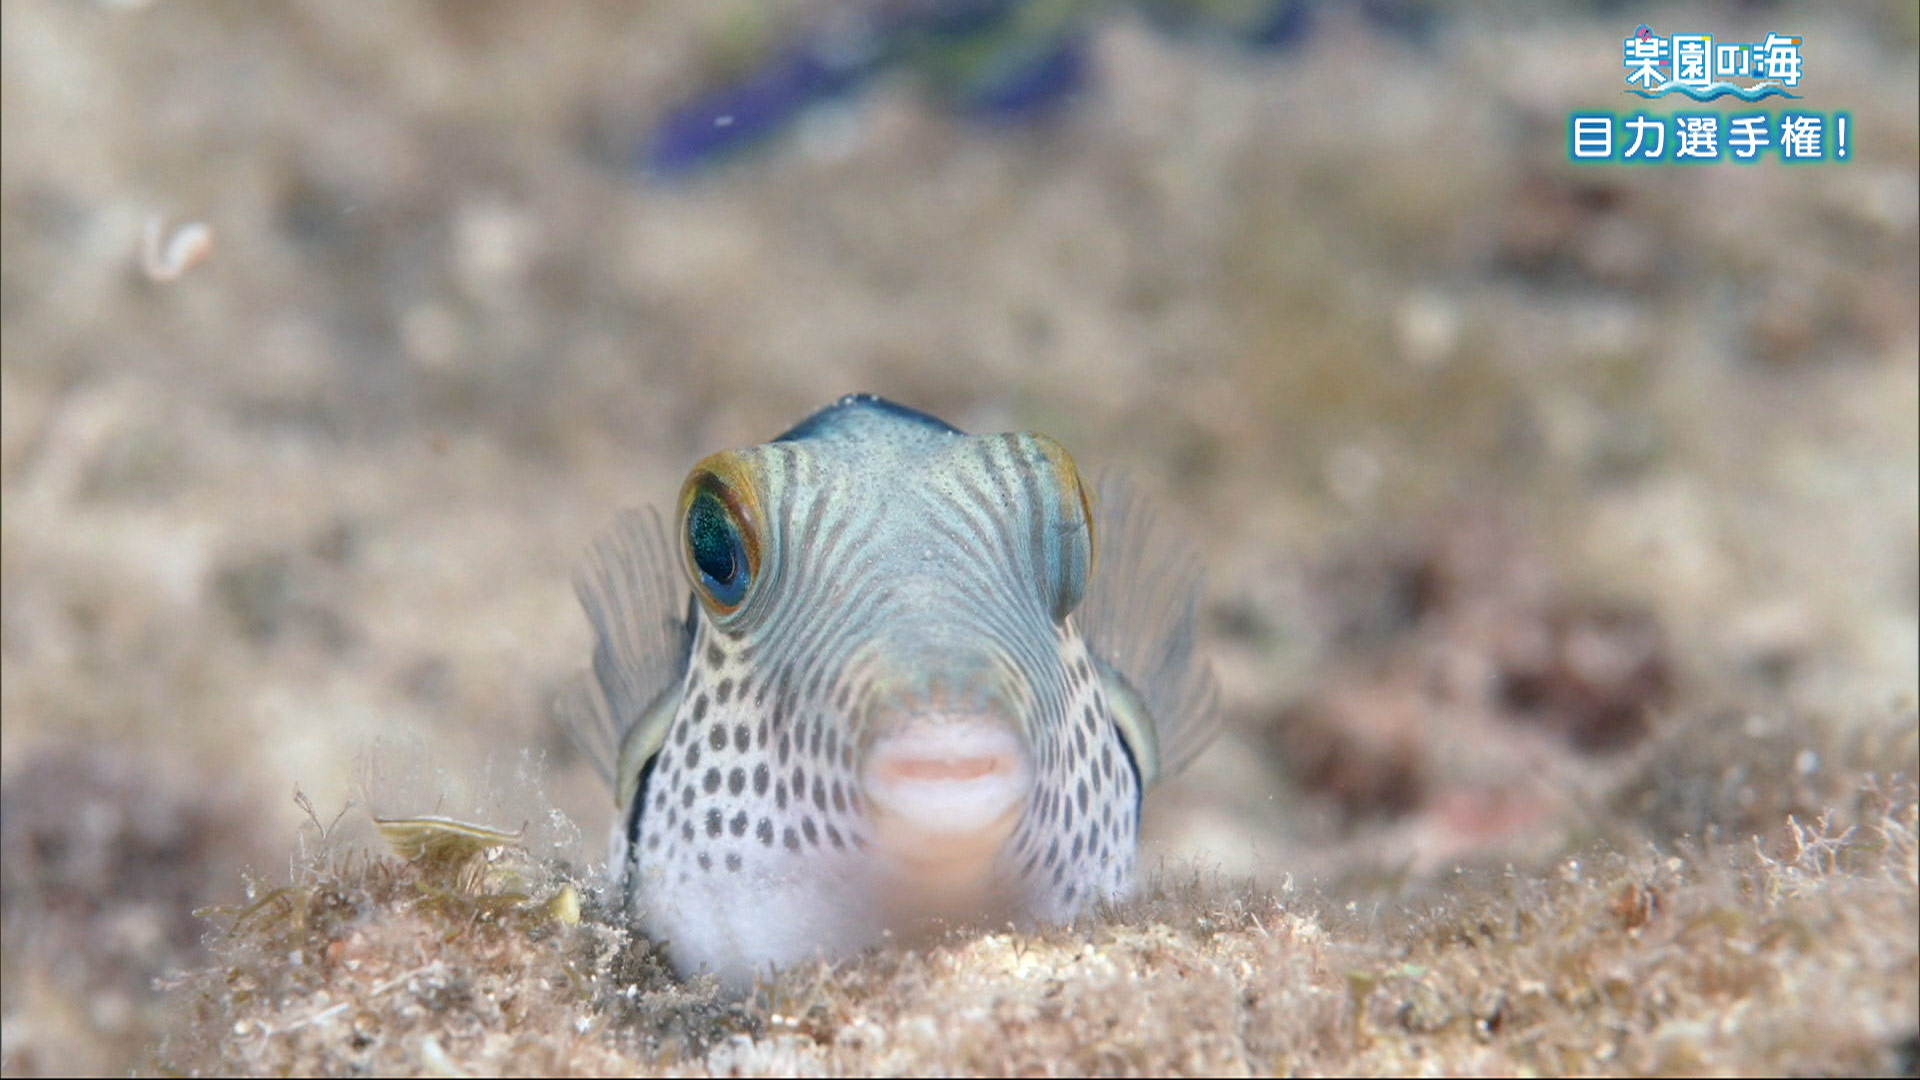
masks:
<instances>
[{"instance_id":1,"label":"whole spotted and striped pufferfish facing forward on the sandy seabed","mask_svg":"<svg viewBox=\"0 0 1920 1080\"><path fill-rule=\"evenodd\" d=\"M1044 434L852 394L699 461L672 528L622 513L574 584L559 711L682 974L1121 899L1140 796L1213 734L1198 565Z\"/></svg>"}]
</instances>

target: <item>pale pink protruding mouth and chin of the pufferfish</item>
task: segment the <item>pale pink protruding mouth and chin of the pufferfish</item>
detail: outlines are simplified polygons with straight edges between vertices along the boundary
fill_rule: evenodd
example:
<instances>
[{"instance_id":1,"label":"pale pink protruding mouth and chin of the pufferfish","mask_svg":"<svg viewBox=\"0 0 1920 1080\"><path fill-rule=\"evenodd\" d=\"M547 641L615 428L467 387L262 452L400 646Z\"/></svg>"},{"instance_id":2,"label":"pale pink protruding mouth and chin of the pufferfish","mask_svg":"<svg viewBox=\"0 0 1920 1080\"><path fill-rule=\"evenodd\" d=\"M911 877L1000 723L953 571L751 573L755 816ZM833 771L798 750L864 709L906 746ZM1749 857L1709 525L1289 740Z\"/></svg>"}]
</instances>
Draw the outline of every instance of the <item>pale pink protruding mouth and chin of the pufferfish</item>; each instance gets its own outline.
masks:
<instances>
[{"instance_id":1,"label":"pale pink protruding mouth and chin of the pufferfish","mask_svg":"<svg viewBox=\"0 0 1920 1080\"><path fill-rule=\"evenodd\" d=\"M918 721L879 738L860 773L897 899L977 907L1033 790L1025 740L989 717Z\"/></svg>"}]
</instances>

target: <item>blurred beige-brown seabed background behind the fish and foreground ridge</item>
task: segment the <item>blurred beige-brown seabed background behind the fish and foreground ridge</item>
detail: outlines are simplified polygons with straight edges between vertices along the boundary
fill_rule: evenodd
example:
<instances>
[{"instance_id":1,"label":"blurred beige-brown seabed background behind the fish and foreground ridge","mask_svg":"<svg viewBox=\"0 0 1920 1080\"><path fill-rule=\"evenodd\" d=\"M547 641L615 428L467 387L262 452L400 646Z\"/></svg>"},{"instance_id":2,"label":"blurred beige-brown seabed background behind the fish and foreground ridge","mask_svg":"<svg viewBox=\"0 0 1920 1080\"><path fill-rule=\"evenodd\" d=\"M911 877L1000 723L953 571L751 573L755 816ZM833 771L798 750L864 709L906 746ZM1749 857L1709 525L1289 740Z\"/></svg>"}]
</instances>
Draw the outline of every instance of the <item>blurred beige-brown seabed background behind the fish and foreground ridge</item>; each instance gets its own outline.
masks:
<instances>
[{"instance_id":1,"label":"blurred beige-brown seabed background behind the fish and foreground ridge","mask_svg":"<svg viewBox=\"0 0 1920 1080\"><path fill-rule=\"evenodd\" d=\"M1916 21L0 6L0 1065L142 1063L192 911L397 744L390 813L597 859L576 557L849 390L1190 530L1169 867L1359 896L1763 834L1860 732L1912 774ZM1569 163L1636 23L1803 37L1849 160Z\"/></svg>"}]
</instances>

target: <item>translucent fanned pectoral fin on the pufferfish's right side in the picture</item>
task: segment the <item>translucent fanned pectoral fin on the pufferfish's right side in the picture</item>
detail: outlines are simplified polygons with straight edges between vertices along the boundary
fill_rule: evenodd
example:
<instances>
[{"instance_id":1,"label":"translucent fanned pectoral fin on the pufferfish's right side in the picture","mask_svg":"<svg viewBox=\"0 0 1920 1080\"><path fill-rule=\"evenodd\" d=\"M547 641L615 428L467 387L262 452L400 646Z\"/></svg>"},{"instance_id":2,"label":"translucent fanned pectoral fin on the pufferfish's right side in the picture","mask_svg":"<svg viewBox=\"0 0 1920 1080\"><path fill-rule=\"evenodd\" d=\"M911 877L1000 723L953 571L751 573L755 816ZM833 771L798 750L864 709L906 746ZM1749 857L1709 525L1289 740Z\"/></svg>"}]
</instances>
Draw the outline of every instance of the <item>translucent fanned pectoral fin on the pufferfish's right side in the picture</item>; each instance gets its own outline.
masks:
<instances>
[{"instance_id":1,"label":"translucent fanned pectoral fin on the pufferfish's right side in the picture","mask_svg":"<svg viewBox=\"0 0 1920 1080\"><path fill-rule=\"evenodd\" d=\"M1094 540L1075 621L1148 786L1185 769L1219 730L1213 671L1194 651L1200 557L1119 475L1100 479Z\"/></svg>"}]
</instances>

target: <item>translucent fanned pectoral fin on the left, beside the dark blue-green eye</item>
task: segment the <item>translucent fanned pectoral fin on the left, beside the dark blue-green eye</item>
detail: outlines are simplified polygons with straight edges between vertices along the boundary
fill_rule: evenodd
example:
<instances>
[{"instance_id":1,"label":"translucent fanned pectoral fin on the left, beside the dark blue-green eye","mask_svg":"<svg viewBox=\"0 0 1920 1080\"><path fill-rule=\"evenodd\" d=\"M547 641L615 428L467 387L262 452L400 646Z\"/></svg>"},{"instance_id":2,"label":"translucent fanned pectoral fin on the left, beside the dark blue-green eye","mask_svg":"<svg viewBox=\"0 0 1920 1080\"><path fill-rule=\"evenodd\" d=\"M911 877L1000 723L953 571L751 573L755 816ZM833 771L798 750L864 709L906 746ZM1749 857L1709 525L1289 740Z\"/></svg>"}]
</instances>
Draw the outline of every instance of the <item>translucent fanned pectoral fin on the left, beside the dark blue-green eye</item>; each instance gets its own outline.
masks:
<instances>
[{"instance_id":1,"label":"translucent fanned pectoral fin on the left, beside the dark blue-green eye","mask_svg":"<svg viewBox=\"0 0 1920 1080\"><path fill-rule=\"evenodd\" d=\"M622 511L574 573L593 625L593 667L566 680L555 711L622 807L666 738L693 646L674 563L660 515L647 507Z\"/></svg>"}]
</instances>

